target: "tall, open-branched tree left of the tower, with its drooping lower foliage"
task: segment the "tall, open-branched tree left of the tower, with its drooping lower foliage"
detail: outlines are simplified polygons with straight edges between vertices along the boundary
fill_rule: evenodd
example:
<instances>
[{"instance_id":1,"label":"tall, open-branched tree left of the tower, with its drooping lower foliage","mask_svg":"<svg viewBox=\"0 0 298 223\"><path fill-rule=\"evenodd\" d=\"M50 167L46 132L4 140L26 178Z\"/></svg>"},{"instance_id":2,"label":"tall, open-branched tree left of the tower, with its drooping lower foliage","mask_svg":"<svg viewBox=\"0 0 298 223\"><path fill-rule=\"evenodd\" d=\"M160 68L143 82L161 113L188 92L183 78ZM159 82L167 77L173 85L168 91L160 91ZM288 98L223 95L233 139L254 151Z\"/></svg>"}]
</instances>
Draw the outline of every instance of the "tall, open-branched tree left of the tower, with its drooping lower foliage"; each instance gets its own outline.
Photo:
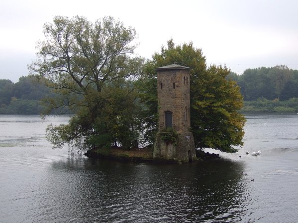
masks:
<instances>
[{"instance_id":1,"label":"tall, open-branched tree left of the tower, with its drooping lower foliage","mask_svg":"<svg viewBox=\"0 0 298 223\"><path fill-rule=\"evenodd\" d=\"M69 124L48 127L48 140L54 147L69 143L89 149L113 142L131 147L138 137L131 114L138 106L128 80L143 62L132 57L135 30L112 17L92 23L56 16L44 25L44 34L29 69L48 80L57 95L46 100L49 110L75 112Z\"/></svg>"}]
</instances>

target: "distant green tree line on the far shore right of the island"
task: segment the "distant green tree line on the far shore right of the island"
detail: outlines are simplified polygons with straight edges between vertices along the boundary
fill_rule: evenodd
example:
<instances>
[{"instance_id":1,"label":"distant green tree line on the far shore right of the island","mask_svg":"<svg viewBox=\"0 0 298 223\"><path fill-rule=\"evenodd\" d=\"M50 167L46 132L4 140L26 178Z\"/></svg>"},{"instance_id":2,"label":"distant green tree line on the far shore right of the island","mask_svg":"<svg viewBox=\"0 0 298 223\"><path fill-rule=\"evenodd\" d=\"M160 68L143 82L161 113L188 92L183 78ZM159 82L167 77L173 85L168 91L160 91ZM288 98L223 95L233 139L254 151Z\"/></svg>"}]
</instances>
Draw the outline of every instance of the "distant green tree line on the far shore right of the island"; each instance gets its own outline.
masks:
<instances>
[{"instance_id":1,"label":"distant green tree line on the far shore right of the island","mask_svg":"<svg viewBox=\"0 0 298 223\"><path fill-rule=\"evenodd\" d=\"M298 70L285 65L231 72L244 98L242 112L297 112Z\"/></svg>"}]
</instances>

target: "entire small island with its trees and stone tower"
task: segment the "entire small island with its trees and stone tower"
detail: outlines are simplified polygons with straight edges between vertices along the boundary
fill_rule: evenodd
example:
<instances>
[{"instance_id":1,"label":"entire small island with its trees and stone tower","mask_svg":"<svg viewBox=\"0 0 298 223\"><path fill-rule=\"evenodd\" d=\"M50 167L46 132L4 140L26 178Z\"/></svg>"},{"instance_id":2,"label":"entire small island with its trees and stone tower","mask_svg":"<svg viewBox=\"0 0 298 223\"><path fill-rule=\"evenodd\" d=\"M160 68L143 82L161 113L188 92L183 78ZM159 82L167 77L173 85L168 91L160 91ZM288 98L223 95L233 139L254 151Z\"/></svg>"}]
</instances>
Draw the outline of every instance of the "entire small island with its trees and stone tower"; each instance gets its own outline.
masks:
<instances>
[{"instance_id":1,"label":"entire small island with its trees and stone tower","mask_svg":"<svg viewBox=\"0 0 298 223\"><path fill-rule=\"evenodd\" d=\"M134 54L136 31L112 17L55 16L44 34L30 74L51 89L45 113L72 113L68 124L48 125L53 148L187 163L198 149L234 153L243 145L240 88L192 42L170 39L145 59Z\"/></svg>"}]
</instances>

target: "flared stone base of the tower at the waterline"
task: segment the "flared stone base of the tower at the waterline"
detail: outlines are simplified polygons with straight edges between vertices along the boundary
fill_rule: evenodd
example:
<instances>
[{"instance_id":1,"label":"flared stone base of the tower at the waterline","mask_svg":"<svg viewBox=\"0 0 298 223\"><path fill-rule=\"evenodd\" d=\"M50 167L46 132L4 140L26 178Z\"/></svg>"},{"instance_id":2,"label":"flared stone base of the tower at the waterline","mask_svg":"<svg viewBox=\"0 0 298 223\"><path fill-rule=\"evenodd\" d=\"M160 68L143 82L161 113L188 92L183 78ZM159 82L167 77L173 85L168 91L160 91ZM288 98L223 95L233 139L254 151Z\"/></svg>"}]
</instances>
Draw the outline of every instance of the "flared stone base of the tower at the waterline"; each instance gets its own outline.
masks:
<instances>
[{"instance_id":1,"label":"flared stone base of the tower at the waterline","mask_svg":"<svg viewBox=\"0 0 298 223\"><path fill-rule=\"evenodd\" d=\"M177 134L175 142L165 140L167 137L164 136L171 134ZM159 132L154 144L153 159L178 163L188 163L197 160L193 133Z\"/></svg>"}]
</instances>

